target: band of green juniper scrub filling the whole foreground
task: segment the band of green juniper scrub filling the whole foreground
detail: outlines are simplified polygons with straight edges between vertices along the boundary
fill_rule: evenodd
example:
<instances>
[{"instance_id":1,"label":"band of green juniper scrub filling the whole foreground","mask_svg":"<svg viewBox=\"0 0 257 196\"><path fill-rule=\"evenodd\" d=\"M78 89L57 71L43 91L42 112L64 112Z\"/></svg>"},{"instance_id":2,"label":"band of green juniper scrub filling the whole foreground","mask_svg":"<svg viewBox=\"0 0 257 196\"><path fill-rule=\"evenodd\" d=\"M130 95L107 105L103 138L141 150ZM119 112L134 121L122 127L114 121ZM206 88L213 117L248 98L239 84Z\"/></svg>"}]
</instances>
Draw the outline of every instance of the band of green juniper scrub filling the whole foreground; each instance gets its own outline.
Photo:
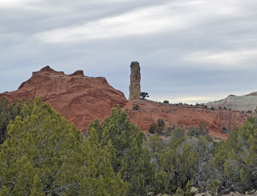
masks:
<instances>
[{"instance_id":1,"label":"band of green juniper scrub filling the whole foreground","mask_svg":"<svg viewBox=\"0 0 257 196\"><path fill-rule=\"evenodd\" d=\"M2 101L0 120L6 122L3 114L12 105ZM187 132L167 127L169 137L147 139L118 105L103 124L91 122L83 138L41 98L19 104L0 145L0 196L214 196L257 190L255 117L219 143L204 123ZM163 119L157 129L165 131Z\"/></svg>"}]
</instances>

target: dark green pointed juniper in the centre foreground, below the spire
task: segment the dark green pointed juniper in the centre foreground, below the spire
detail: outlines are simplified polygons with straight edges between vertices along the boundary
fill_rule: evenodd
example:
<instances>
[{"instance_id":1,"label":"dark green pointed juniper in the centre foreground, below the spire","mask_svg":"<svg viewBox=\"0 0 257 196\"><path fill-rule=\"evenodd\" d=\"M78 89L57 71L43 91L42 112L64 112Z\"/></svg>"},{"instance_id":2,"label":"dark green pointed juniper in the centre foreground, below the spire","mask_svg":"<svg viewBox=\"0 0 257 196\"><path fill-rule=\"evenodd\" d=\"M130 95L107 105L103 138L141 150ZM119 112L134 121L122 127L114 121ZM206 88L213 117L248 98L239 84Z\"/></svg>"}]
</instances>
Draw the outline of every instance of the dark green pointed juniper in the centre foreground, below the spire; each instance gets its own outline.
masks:
<instances>
[{"instance_id":1,"label":"dark green pointed juniper in the centre foreground, below the spire","mask_svg":"<svg viewBox=\"0 0 257 196\"><path fill-rule=\"evenodd\" d=\"M88 127L88 132L91 132L93 126L94 123ZM156 165L150 162L149 148L143 146L146 137L139 127L129 123L127 114L121 113L119 105L104 120L102 130L100 146L107 146L114 172L128 182L126 195L157 193Z\"/></svg>"}]
</instances>

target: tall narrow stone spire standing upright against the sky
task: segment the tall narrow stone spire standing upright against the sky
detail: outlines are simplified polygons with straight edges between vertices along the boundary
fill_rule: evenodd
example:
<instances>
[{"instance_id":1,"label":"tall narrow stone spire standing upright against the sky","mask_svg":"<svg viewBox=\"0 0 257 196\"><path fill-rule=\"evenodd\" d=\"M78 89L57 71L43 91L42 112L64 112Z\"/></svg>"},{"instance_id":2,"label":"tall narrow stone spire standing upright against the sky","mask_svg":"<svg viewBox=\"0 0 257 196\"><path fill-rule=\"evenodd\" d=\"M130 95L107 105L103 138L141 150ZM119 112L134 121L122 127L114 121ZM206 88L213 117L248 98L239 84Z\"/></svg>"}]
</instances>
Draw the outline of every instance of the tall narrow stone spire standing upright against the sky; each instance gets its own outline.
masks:
<instances>
[{"instance_id":1,"label":"tall narrow stone spire standing upright against the sky","mask_svg":"<svg viewBox=\"0 0 257 196\"><path fill-rule=\"evenodd\" d=\"M130 85L129 85L129 100L135 100L140 98L141 87L140 87L140 66L136 61L131 62L130 65Z\"/></svg>"}]
</instances>

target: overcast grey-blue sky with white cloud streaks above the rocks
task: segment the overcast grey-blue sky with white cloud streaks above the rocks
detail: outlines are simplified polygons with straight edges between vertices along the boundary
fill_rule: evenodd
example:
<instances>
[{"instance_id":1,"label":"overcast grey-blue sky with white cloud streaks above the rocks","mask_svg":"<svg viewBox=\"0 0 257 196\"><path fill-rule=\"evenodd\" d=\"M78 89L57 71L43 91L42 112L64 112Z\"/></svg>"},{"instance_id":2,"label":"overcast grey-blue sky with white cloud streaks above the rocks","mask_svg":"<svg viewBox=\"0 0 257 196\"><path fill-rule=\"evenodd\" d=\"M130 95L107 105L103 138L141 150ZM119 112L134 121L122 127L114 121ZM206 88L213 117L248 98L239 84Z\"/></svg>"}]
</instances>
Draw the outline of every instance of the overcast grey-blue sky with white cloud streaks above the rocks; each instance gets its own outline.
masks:
<instances>
[{"instance_id":1,"label":"overcast grey-blue sky with white cloud streaks above the rocks","mask_svg":"<svg viewBox=\"0 0 257 196\"><path fill-rule=\"evenodd\" d=\"M131 61L154 101L257 91L257 0L0 0L0 93L49 65L129 98Z\"/></svg>"}]
</instances>

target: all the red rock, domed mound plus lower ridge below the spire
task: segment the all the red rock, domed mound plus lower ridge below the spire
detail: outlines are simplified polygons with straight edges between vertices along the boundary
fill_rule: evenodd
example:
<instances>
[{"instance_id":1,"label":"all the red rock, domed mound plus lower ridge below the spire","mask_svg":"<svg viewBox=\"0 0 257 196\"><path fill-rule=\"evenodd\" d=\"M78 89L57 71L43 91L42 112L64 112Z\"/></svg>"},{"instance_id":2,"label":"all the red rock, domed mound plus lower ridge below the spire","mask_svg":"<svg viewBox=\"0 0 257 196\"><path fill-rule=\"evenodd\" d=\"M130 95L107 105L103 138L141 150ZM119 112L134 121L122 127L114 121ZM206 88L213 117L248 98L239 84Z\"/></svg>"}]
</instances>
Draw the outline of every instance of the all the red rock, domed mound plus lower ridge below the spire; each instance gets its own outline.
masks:
<instances>
[{"instance_id":1,"label":"all the red rock, domed mound plus lower ridge below the spire","mask_svg":"<svg viewBox=\"0 0 257 196\"><path fill-rule=\"evenodd\" d=\"M148 132L151 124L156 126L156 121L161 118L165 120L166 127L174 125L187 129L199 126L201 122L207 123L211 135L226 139L228 135L221 132L222 127L231 130L233 126L244 123L248 116L238 111L211 110L203 106L177 106L141 99L129 101L121 91L111 87L105 77L88 77L83 71L64 74L49 66L33 72L32 77L23 82L18 90L0 94L0 98L4 96L9 102L23 96L27 100L42 96L43 101L48 101L68 123L75 123L81 131L86 131L90 121L96 118L103 122L110 115L111 108L118 103L127 112L129 121L145 132ZM139 104L141 109L132 110L134 104Z\"/></svg>"}]
</instances>

